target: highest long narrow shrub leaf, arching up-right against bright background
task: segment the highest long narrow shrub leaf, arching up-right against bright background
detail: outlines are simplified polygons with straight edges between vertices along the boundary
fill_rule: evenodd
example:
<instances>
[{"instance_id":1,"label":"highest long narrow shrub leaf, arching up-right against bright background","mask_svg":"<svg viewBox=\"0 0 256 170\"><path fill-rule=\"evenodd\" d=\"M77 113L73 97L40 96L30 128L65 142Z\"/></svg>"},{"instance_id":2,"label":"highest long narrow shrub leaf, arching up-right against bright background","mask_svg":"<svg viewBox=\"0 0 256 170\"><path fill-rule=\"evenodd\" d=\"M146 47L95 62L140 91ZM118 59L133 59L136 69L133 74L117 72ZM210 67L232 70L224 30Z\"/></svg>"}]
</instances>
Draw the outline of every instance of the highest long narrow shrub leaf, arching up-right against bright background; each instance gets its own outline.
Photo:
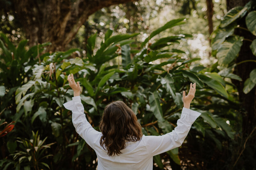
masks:
<instances>
[{"instance_id":1,"label":"highest long narrow shrub leaf, arching up-right against bright background","mask_svg":"<svg viewBox=\"0 0 256 170\"><path fill-rule=\"evenodd\" d=\"M167 22L164 26L158 28L157 30L153 31L148 38L146 38L146 40L144 42L141 43L140 45L140 48L142 48L143 46L146 45L146 43L151 39L153 38L155 35L161 33L162 31L168 29L168 28L171 28L173 26L178 26L178 25L181 25L181 24L184 24L185 22L184 21L185 18L179 18L179 19L173 19L169 22Z\"/></svg>"}]
</instances>

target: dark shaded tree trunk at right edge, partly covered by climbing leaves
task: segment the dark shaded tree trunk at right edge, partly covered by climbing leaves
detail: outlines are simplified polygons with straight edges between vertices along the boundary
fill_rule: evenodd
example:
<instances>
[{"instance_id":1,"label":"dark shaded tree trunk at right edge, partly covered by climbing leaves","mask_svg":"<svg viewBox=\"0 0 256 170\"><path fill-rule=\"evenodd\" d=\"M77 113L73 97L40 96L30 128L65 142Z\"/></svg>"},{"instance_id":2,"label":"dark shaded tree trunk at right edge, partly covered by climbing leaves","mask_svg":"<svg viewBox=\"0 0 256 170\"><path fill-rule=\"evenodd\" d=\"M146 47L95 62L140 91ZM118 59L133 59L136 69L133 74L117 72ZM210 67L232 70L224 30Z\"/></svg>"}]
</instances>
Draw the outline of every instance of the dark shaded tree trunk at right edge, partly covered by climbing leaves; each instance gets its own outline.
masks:
<instances>
[{"instance_id":1,"label":"dark shaded tree trunk at right edge, partly covered by climbing leaves","mask_svg":"<svg viewBox=\"0 0 256 170\"><path fill-rule=\"evenodd\" d=\"M227 0L227 10L235 6L244 6L248 3L249 0ZM240 27L246 27L245 17L238 21L237 23ZM235 29L234 32L236 35L244 37L244 39L254 40L256 37L250 33L249 31L245 31L243 29ZM244 60L255 60L255 56L252 54L252 50L250 49L251 41L244 40L243 45L240 49L239 55L236 59L236 63L239 63ZM255 156L255 139L256 136L252 136L249 138L250 133L254 129L256 125L256 88L254 87L248 94L243 92L244 82L247 78L250 77L250 72L256 68L256 63L254 62L245 62L236 66L234 73L242 78L243 81L232 80L232 82L236 85L237 91L239 93L239 101L241 102L243 110L241 111L243 117L242 123L242 148L240 148L239 153L244 148L244 143L246 139L246 147L250 148L251 152L254 152ZM239 150L239 149L238 149ZM254 150L254 151L253 151ZM244 155L246 157L246 155ZM255 157L254 157L255 158ZM249 163L248 164L252 164Z\"/></svg>"}]
</instances>

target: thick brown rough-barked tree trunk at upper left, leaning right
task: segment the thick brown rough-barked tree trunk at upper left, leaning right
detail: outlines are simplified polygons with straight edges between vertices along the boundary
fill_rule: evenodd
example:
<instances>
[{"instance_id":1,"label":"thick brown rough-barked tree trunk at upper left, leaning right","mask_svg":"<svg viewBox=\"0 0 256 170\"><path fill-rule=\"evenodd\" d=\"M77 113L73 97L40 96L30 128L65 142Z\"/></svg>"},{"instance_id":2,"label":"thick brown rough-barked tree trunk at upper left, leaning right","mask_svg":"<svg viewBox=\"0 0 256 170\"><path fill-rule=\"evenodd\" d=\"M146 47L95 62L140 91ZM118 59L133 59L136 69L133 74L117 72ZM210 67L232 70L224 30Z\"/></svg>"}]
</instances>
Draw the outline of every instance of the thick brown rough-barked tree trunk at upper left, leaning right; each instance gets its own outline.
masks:
<instances>
[{"instance_id":1,"label":"thick brown rough-barked tree trunk at upper left, leaning right","mask_svg":"<svg viewBox=\"0 0 256 170\"><path fill-rule=\"evenodd\" d=\"M86 19L103 7L134 0L14 0L29 45L51 42L47 51L61 51Z\"/></svg>"}]
</instances>

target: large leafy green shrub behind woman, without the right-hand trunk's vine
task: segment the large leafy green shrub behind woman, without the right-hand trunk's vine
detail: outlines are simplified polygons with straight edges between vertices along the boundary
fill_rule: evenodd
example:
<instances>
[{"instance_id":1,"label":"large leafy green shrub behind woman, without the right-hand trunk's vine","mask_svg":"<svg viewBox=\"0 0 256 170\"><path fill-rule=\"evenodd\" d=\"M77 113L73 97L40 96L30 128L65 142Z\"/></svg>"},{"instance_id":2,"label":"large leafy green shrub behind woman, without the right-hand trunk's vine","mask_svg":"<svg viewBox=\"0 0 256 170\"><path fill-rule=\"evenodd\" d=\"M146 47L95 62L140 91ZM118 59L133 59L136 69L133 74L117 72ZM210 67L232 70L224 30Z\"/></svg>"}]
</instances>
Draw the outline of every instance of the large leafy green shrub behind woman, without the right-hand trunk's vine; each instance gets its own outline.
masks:
<instances>
[{"instance_id":1,"label":"large leafy green shrub behind woman, without the right-hand trunk's vine","mask_svg":"<svg viewBox=\"0 0 256 170\"><path fill-rule=\"evenodd\" d=\"M184 20L169 21L136 48L131 48L134 40L130 39L136 33L111 36L113 31L108 30L100 48L95 50L97 35L94 34L88 39L84 58L79 56L79 49L39 56L43 47L49 44L34 46L27 51L25 41L14 48L2 34L0 81L4 95L1 96L1 109L6 108L3 120L16 121L16 124L1 143L7 145L8 151L2 151L4 159L0 164L5 167L17 165L9 155L22 149L17 146L16 137L29 138L33 130L38 131L41 137L47 137L46 143L56 142L50 153L42 155L53 155L53 159L47 160L50 169L96 168L95 152L78 136L71 121L72 113L63 107L63 103L71 100L73 95L67 83L67 75L71 73L82 85L81 100L85 114L95 129L99 130L98 123L106 104L112 100L123 100L137 115L145 135L161 135L174 129L183 107L181 92L188 89L190 82L196 82L196 98L191 107L200 111L202 116L194 123L187 142L181 148L154 157L160 169L167 165L167 160L175 169L175 166L180 167L180 160L186 162L187 158L190 164L201 166L211 156L202 151L203 147L209 147L209 152L214 154L223 147L227 148L223 143L234 139L231 127L239 119L236 116L236 95L230 92L228 95L226 90L228 82L201 65L189 69L191 63L200 58L184 59L181 57L184 51L168 47L191 35L153 39L166 29L183 24ZM149 40L154 43L148 43ZM159 63L159 60L164 61ZM16 64L14 70L8 69L11 63ZM228 87L229 91L233 90ZM231 126L226 123L227 119ZM192 159L192 154L198 150L204 155L202 161ZM192 153L191 157L188 154L184 158L182 153L188 151ZM29 155L24 156L29 159ZM165 160L164 164L161 159Z\"/></svg>"}]
</instances>

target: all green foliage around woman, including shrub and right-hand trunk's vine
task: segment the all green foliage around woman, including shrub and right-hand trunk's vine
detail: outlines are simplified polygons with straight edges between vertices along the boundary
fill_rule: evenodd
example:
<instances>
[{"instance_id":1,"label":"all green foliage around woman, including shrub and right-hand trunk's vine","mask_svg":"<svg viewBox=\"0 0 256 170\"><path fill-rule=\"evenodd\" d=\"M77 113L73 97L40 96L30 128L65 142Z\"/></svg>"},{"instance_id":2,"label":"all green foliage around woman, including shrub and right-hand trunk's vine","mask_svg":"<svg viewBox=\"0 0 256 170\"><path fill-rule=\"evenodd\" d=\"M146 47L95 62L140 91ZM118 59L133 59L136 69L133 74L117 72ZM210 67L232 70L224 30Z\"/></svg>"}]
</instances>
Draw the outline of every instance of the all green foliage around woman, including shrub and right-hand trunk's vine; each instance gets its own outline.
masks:
<instances>
[{"instance_id":1,"label":"all green foliage around woman, including shrub and right-hand trunk's vine","mask_svg":"<svg viewBox=\"0 0 256 170\"><path fill-rule=\"evenodd\" d=\"M154 157L154 168L252 169L255 128L245 126L246 134L244 123L253 113L241 106L242 94L234 81L243 85L245 94L255 91L255 67L246 80L235 74L237 65L256 62L237 63L241 47L248 46L244 41L256 55L255 7L249 2L227 12L212 33L212 55L218 62L209 67L201 65L200 58L184 57L186 52L177 48L192 35L165 34L186 24L185 18L168 21L142 42L135 41L138 33L114 34L108 29L97 44L100 39L94 33L86 40L85 57L78 48L45 52L51 43L28 48L28 40L22 40L16 47L1 33L1 169L96 168L95 152L76 133L72 113L63 107L73 95L67 82L71 73L82 86L85 114L95 129L106 104L123 100L137 115L144 135L174 129L183 107L181 92L196 82L191 109L202 115L180 148ZM237 29L251 37L239 36Z\"/></svg>"}]
</instances>

